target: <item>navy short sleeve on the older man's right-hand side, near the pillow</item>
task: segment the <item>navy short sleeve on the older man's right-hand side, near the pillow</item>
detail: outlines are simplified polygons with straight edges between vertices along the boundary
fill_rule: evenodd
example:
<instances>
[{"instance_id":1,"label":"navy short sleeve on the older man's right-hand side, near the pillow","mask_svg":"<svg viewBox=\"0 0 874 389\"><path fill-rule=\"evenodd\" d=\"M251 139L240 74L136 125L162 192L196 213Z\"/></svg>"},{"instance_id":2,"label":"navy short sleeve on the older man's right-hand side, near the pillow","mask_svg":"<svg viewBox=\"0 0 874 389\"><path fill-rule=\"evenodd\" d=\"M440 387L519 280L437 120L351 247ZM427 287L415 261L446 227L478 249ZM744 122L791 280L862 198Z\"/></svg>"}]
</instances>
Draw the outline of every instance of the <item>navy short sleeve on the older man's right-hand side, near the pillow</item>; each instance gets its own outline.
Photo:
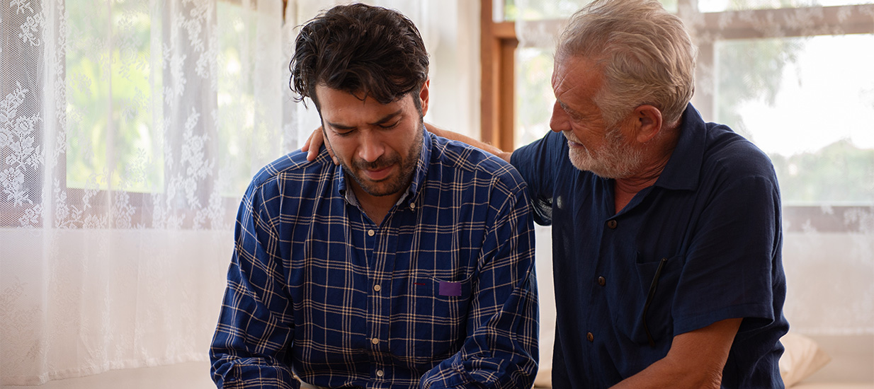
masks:
<instances>
[{"instance_id":1,"label":"navy short sleeve on the older man's right-hand side, near the pillow","mask_svg":"<svg viewBox=\"0 0 874 389\"><path fill-rule=\"evenodd\" d=\"M716 159L711 170L716 182L677 283L675 334L732 317L746 317L740 332L755 331L779 318L773 288L782 279L780 190L767 157L746 140L737 143L724 150L732 166Z\"/></svg>"}]
</instances>

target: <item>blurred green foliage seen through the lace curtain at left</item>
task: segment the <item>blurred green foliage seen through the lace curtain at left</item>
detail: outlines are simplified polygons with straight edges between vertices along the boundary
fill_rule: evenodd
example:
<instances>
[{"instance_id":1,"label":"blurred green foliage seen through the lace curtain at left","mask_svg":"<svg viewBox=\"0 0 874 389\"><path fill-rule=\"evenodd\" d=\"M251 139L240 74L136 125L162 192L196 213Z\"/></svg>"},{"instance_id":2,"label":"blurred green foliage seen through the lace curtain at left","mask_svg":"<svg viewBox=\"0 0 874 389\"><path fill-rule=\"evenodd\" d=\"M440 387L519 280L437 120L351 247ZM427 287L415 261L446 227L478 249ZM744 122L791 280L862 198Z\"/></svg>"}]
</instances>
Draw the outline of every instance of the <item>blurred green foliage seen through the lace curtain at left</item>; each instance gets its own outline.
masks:
<instances>
[{"instance_id":1,"label":"blurred green foliage seen through the lace curtain at left","mask_svg":"<svg viewBox=\"0 0 874 389\"><path fill-rule=\"evenodd\" d=\"M239 22L239 5L217 7L223 27L218 29L218 160L228 174L223 193L233 197L253 175L247 163L253 140L246 133L259 126L253 119L257 105L253 81L242 78L253 76L253 59L240 48L255 41L255 26ZM65 52L66 75L59 75L66 77L66 187L162 193L167 178L161 66L171 66L164 64L170 60L163 52L170 38L163 35L162 21L128 3L113 3L109 10L72 2L66 10L70 35L78 37Z\"/></svg>"}]
</instances>

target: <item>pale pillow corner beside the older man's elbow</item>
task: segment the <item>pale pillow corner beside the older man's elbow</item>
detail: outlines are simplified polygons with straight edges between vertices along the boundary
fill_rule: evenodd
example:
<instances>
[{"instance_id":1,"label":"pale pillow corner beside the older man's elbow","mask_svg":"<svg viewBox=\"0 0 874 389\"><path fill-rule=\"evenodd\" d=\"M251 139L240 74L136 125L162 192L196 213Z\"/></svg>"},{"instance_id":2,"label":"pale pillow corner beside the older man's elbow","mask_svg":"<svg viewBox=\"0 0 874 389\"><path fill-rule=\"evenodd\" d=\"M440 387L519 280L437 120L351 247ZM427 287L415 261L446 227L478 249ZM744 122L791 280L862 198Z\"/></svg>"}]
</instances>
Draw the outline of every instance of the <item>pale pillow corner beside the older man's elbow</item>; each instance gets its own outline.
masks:
<instances>
[{"instance_id":1,"label":"pale pillow corner beside the older man's elbow","mask_svg":"<svg viewBox=\"0 0 874 389\"><path fill-rule=\"evenodd\" d=\"M786 387L810 377L810 374L831 361L829 354L822 351L813 339L804 335L787 333L780 338L780 343L786 348L780 357L780 377Z\"/></svg>"}]
</instances>

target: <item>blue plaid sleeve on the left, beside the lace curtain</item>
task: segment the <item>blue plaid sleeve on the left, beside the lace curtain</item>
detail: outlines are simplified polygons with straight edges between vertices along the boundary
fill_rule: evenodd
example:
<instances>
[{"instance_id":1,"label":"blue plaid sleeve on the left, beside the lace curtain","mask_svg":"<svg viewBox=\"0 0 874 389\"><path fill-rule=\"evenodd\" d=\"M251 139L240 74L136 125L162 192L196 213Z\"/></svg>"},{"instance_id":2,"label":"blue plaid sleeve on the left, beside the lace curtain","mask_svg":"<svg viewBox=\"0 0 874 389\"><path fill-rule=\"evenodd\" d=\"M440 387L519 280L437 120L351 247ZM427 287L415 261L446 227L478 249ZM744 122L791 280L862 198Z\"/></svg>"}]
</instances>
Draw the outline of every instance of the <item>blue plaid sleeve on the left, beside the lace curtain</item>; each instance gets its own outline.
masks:
<instances>
[{"instance_id":1,"label":"blue plaid sleeve on the left, beside the lace curtain","mask_svg":"<svg viewBox=\"0 0 874 389\"><path fill-rule=\"evenodd\" d=\"M300 386L286 352L295 329L271 201L279 201L279 194L265 194L253 183L239 207L236 248L210 349L212 379L220 388Z\"/></svg>"}]
</instances>

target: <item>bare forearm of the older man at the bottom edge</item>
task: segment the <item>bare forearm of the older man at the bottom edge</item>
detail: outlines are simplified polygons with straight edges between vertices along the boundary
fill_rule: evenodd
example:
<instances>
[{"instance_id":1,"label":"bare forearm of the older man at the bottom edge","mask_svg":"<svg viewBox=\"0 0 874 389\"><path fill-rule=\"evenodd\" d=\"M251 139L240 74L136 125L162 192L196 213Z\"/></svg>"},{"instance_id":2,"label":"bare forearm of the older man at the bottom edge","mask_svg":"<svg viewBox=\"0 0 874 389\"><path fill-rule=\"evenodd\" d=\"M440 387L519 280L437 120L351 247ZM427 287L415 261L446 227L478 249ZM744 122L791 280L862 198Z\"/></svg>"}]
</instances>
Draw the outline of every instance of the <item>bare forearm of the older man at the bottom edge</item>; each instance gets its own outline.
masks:
<instances>
[{"instance_id":1,"label":"bare forearm of the older man at the bottom edge","mask_svg":"<svg viewBox=\"0 0 874 389\"><path fill-rule=\"evenodd\" d=\"M677 335L668 355L612 388L719 389L722 370L742 320L725 319Z\"/></svg>"}]
</instances>

